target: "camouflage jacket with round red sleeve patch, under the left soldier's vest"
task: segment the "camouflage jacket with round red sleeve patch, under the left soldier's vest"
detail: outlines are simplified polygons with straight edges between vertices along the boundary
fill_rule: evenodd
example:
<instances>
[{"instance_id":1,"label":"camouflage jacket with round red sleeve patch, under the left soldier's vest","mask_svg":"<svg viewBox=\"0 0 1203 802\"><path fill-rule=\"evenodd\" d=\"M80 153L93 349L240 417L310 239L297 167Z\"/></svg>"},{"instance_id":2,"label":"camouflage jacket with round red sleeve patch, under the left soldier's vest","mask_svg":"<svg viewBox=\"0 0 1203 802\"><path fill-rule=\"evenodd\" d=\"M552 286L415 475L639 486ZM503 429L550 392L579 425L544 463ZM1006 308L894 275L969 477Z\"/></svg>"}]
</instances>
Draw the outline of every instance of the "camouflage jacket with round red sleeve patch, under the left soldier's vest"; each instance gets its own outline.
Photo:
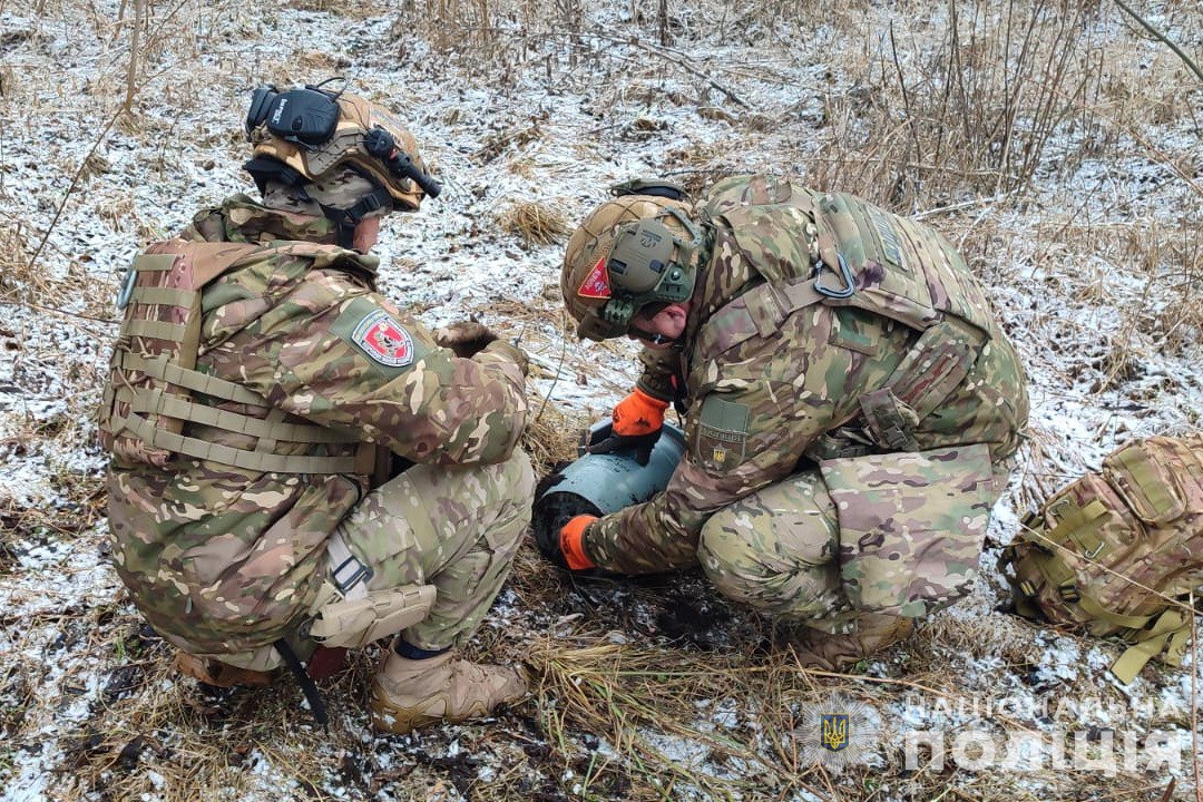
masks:
<instances>
[{"instance_id":1,"label":"camouflage jacket with round red sleeve patch, under the left soldier's vest","mask_svg":"<svg viewBox=\"0 0 1203 802\"><path fill-rule=\"evenodd\" d=\"M296 220L235 196L197 215L182 238L333 240L326 220ZM373 257L352 251L326 267L268 251L206 285L197 370L269 404L219 405L283 424L333 427L413 462L508 458L526 418L523 376L510 346L493 343L472 358L455 357L374 292L374 268ZM362 335L366 321L403 329L408 356L374 351ZM201 393L192 400L217 403ZM186 423L184 434L275 453L355 448L265 444L198 423ZM325 541L367 486L367 476L352 474L261 473L182 455L159 469L114 457L108 489L117 570L150 624L188 650L231 654L272 643L308 613L325 578Z\"/></svg>"}]
</instances>

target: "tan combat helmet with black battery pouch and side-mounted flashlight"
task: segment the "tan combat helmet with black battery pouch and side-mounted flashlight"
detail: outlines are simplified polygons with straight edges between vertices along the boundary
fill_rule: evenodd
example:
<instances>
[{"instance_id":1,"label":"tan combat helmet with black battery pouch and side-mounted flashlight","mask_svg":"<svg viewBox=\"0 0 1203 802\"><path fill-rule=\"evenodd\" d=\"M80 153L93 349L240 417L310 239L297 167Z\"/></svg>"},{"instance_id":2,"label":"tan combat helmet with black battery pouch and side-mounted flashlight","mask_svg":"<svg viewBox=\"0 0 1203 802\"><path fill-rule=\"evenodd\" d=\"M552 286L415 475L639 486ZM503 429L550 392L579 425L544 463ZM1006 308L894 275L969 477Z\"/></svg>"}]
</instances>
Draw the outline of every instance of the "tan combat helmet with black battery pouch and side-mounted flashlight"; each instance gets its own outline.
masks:
<instances>
[{"instance_id":1,"label":"tan combat helmet with black battery pouch and side-mounted flashlight","mask_svg":"<svg viewBox=\"0 0 1203 802\"><path fill-rule=\"evenodd\" d=\"M416 212L422 197L438 197L442 186L426 172L417 142L401 120L356 95L322 89L327 83L255 90L245 124L254 153L243 168L260 192L269 180L304 188L339 167L366 178L375 189L354 206L319 203L338 224L339 244L349 246L365 216L379 209Z\"/></svg>"}]
</instances>

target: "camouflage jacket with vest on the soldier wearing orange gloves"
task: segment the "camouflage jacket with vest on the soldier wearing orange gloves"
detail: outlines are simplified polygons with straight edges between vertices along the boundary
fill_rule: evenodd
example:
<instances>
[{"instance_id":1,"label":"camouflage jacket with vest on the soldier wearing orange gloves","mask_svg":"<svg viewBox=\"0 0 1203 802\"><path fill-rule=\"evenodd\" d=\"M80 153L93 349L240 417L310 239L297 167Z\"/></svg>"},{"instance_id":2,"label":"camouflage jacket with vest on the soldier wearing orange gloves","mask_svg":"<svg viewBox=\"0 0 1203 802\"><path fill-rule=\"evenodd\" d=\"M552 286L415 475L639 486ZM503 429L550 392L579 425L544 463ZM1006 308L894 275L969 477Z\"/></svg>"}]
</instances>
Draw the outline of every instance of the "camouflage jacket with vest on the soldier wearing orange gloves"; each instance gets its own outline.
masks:
<instances>
[{"instance_id":1,"label":"camouflage jacket with vest on the soldier wearing orange gloves","mask_svg":"<svg viewBox=\"0 0 1203 802\"><path fill-rule=\"evenodd\" d=\"M716 185L697 212L709 250L685 345L645 357L639 382L670 398L674 368L685 376L686 455L663 493L588 528L598 565L689 565L713 512L819 459L980 442L1001 464L1015 451L1023 367L943 237L764 176ZM792 304L813 295L819 261L835 290L847 263L854 293Z\"/></svg>"}]
</instances>

